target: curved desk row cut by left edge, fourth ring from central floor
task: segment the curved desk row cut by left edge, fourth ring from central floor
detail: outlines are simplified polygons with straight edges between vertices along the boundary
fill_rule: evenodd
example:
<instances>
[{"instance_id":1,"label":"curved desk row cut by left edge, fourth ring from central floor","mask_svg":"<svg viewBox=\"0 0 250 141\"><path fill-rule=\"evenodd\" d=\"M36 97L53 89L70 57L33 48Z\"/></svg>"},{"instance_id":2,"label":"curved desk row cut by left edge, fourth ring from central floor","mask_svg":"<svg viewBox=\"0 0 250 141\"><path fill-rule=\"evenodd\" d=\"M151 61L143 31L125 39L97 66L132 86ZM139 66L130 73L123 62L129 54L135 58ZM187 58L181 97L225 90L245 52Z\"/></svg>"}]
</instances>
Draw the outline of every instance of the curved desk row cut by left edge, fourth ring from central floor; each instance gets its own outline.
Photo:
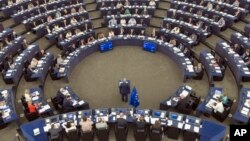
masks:
<instances>
[{"instance_id":1,"label":"curved desk row cut by left edge, fourth ring from central floor","mask_svg":"<svg viewBox=\"0 0 250 141\"><path fill-rule=\"evenodd\" d=\"M19 36L12 40L10 44L7 44L1 51L0 51L0 64L5 61L5 58L8 56L14 56L19 50L22 49L23 37Z\"/></svg>"}]
</instances>

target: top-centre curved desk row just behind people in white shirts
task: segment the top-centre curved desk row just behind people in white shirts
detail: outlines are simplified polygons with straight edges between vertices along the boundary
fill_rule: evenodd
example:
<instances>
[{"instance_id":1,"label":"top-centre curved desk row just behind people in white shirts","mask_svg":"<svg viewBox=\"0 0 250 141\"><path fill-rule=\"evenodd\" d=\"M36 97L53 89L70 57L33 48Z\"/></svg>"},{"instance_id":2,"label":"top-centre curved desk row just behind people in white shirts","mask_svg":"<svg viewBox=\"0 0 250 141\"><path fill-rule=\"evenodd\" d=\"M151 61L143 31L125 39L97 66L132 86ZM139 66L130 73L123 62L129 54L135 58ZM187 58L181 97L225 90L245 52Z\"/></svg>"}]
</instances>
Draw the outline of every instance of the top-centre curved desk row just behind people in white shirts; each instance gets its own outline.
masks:
<instances>
[{"instance_id":1,"label":"top-centre curved desk row just behind people in white shirts","mask_svg":"<svg viewBox=\"0 0 250 141\"><path fill-rule=\"evenodd\" d=\"M136 9L138 9L138 13L141 13L144 9L146 8L146 12L149 15L154 15L155 12L155 6L139 6L139 5L133 5L133 6L124 6L124 9L129 9L130 14L135 14ZM120 12L120 9L116 7L101 7L101 16L106 16L106 15L116 15L118 12ZM121 13L124 14L124 13Z\"/></svg>"}]
</instances>

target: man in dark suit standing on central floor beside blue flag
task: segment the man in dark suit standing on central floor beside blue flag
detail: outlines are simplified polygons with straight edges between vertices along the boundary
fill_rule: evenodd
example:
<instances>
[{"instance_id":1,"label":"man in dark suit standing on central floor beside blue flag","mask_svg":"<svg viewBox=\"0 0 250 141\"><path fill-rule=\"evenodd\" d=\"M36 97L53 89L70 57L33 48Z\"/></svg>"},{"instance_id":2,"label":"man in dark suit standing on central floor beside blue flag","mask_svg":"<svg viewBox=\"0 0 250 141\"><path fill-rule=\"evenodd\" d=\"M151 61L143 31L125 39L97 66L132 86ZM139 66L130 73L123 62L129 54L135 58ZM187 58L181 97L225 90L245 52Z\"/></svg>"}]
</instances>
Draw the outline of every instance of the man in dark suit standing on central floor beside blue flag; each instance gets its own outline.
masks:
<instances>
[{"instance_id":1,"label":"man in dark suit standing on central floor beside blue flag","mask_svg":"<svg viewBox=\"0 0 250 141\"><path fill-rule=\"evenodd\" d=\"M126 78L123 78L123 80L119 82L119 90L120 94L122 95L122 101L127 102L128 95L130 93L130 85L129 81Z\"/></svg>"}]
</instances>

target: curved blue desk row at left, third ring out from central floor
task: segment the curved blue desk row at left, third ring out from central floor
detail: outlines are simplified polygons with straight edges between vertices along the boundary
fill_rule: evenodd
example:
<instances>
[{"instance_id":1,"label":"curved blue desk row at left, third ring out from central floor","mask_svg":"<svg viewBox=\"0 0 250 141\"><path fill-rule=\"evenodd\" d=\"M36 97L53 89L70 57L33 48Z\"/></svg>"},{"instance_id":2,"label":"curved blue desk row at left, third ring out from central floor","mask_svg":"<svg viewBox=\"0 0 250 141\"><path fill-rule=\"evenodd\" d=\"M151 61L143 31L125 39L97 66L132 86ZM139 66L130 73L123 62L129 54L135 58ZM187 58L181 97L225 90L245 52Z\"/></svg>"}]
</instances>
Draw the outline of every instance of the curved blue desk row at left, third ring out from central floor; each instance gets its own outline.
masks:
<instances>
[{"instance_id":1,"label":"curved blue desk row at left, third ring out from central floor","mask_svg":"<svg viewBox=\"0 0 250 141\"><path fill-rule=\"evenodd\" d=\"M13 67L9 68L8 71L4 75L4 81L7 84L15 84L17 85L21 76L23 74L24 64L25 62L30 62L33 57L35 57L36 53L39 51L39 47L37 45L28 46L13 62Z\"/></svg>"}]
</instances>

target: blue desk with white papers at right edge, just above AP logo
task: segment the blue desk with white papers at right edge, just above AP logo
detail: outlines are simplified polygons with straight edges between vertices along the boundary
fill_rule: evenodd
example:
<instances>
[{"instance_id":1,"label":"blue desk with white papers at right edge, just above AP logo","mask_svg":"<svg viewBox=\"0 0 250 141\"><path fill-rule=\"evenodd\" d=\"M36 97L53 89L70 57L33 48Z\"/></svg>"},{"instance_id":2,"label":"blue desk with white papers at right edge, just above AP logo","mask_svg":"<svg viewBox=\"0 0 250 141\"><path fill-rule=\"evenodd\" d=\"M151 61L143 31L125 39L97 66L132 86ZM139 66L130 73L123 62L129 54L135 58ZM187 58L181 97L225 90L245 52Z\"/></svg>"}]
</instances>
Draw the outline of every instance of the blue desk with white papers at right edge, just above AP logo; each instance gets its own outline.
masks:
<instances>
[{"instance_id":1,"label":"blue desk with white papers at right edge, just above AP logo","mask_svg":"<svg viewBox=\"0 0 250 141\"><path fill-rule=\"evenodd\" d=\"M241 88L239 93L239 103L237 110L233 114L233 121L239 123L249 123L250 119L250 88Z\"/></svg>"}]
</instances>

